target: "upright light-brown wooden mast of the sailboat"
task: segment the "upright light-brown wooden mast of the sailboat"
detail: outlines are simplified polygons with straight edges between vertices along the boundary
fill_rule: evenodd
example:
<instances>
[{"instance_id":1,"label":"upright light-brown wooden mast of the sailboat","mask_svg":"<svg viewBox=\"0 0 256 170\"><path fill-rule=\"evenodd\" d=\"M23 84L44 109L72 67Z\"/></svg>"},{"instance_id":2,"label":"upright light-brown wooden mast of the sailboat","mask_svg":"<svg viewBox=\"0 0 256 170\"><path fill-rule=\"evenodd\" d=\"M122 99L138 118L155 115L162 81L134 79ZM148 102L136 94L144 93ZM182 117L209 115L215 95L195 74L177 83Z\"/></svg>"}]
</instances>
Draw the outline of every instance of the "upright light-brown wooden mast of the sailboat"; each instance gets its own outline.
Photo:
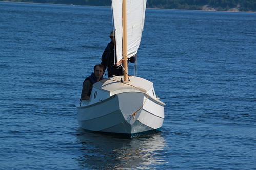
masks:
<instances>
[{"instance_id":1,"label":"upright light-brown wooden mast of the sailboat","mask_svg":"<svg viewBox=\"0 0 256 170\"><path fill-rule=\"evenodd\" d=\"M123 0L123 66L124 81L128 81L126 0Z\"/></svg>"}]
</instances>

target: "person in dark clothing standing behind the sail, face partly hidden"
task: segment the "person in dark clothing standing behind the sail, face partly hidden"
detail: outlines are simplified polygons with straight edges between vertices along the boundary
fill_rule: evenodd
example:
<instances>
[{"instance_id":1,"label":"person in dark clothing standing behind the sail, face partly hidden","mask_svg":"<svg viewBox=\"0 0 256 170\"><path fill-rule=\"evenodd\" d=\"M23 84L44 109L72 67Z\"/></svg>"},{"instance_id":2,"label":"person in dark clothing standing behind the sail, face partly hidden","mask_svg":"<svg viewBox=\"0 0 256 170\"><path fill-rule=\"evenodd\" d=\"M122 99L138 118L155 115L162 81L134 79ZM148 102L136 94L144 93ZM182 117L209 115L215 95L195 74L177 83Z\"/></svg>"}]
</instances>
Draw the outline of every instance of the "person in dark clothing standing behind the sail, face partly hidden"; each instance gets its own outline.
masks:
<instances>
[{"instance_id":1,"label":"person in dark clothing standing behind the sail, face partly hidden","mask_svg":"<svg viewBox=\"0 0 256 170\"><path fill-rule=\"evenodd\" d=\"M102 54L102 65L104 65L105 70L108 68L108 77L111 77L112 75L123 75L123 68L116 66L116 51L115 51L115 32L111 31L109 35L111 41L108 43L105 51ZM137 55L137 54L136 54ZM128 59L131 63L134 63L136 61L136 55Z\"/></svg>"}]
</instances>

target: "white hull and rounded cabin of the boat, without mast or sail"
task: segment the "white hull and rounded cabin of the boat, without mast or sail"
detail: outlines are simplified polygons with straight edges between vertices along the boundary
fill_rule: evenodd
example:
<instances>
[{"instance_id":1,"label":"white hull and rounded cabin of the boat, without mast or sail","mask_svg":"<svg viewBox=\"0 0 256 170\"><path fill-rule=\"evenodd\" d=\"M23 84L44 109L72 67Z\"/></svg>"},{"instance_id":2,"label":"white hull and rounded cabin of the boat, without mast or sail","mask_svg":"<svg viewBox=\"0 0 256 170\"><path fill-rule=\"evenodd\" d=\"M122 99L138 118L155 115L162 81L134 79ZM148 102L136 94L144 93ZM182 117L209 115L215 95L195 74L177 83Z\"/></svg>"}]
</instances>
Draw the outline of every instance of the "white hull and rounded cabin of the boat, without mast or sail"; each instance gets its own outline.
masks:
<instances>
[{"instance_id":1,"label":"white hull and rounded cabin of the boat, without mast or sail","mask_svg":"<svg viewBox=\"0 0 256 170\"><path fill-rule=\"evenodd\" d=\"M131 136L159 130L164 121L165 104L155 96L153 83L139 77L131 77L126 84L116 82L120 78L95 83L90 101L76 104L79 126L90 131ZM135 83L138 81L140 83Z\"/></svg>"}]
</instances>

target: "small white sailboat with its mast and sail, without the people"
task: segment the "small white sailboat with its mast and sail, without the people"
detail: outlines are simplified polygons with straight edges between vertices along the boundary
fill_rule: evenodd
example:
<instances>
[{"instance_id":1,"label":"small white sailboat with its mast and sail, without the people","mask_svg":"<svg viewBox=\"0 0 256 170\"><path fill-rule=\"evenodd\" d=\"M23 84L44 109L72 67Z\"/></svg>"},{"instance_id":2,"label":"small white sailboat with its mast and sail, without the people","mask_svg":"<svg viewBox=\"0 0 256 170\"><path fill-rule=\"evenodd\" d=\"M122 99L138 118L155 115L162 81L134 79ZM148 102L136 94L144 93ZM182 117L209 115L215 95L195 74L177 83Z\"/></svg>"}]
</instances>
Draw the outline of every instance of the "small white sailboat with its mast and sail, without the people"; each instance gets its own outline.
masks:
<instances>
[{"instance_id":1,"label":"small white sailboat with its mast and sail, without the people","mask_svg":"<svg viewBox=\"0 0 256 170\"><path fill-rule=\"evenodd\" d=\"M160 131L165 104L156 96L153 83L128 76L127 59L137 53L141 42L146 0L112 0L112 9L116 58L122 61L124 75L94 83L90 100L76 103L79 126L129 137Z\"/></svg>"}]
</instances>

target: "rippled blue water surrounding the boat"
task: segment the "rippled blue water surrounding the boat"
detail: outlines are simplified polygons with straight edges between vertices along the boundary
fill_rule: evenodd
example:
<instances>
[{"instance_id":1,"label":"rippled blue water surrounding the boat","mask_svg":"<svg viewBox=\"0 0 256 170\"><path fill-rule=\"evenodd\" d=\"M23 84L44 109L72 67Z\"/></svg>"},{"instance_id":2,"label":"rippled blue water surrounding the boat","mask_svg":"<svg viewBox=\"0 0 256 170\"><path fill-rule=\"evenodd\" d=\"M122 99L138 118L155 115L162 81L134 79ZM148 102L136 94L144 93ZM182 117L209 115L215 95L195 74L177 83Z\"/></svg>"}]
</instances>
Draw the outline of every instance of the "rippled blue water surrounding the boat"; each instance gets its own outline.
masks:
<instances>
[{"instance_id":1,"label":"rippled blue water surrounding the boat","mask_svg":"<svg viewBox=\"0 0 256 170\"><path fill-rule=\"evenodd\" d=\"M255 13L146 10L137 75L165 120L133 139L76 120L111 29L108 7L0 2L0 169L256 169Z\"/></svg>"}]
</instances>

